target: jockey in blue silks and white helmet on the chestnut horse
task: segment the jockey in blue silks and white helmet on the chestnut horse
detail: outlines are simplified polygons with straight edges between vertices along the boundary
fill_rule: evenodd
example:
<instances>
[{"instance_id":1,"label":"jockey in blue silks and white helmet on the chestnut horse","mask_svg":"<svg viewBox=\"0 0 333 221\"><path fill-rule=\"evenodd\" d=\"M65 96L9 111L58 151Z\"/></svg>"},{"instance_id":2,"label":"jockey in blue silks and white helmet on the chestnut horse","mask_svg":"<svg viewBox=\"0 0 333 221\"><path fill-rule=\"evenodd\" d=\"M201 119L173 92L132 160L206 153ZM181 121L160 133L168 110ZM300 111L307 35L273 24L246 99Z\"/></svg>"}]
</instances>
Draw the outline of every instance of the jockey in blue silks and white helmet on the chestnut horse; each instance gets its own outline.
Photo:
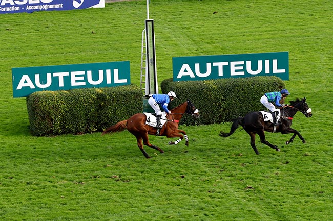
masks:
<instances>
[{"instance_id":1,"label":"jockey in blue silks and white helmet on the chestnut horse","mask_svg":"<svg viewBox=\"0 0 333 221\"><path fill-rule=\"evenodd\" d=\"M161 109L159 108L158 104L161 104L165 113L171 114L171 111L168 110L168 104L170 103L170 101L173 101L176 97L175 92L170 91L168 94L153 94L149 100L148 100L148 104L150 106L152 106L152 108L154 109L155 113L156 113L156 127L157 128L162 128L161 125L161 116L162 116L162 112Z\"/></svg>"}]
</instances>

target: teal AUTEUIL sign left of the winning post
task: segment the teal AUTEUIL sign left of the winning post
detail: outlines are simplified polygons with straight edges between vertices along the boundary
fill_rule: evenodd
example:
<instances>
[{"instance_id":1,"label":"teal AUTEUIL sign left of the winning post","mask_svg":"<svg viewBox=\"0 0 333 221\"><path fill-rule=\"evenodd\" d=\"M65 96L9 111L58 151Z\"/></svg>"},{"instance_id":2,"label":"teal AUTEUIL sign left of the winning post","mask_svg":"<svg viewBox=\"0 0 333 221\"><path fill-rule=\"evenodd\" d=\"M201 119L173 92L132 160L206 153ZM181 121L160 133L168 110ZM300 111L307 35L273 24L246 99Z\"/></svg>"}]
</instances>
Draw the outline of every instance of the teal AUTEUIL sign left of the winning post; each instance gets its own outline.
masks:
<instances>
[{"instance_id":1,"label":"teal AUTEUIL sign left of the winning post","mask_svg":"<svg viewBox=\"0 0 333 221\"><path fill-rule=\"evenodd\" d=\"M35 91L115 87L131 83L130 62L12 68L13 96Z\"/></svg>"}]
</instances>

